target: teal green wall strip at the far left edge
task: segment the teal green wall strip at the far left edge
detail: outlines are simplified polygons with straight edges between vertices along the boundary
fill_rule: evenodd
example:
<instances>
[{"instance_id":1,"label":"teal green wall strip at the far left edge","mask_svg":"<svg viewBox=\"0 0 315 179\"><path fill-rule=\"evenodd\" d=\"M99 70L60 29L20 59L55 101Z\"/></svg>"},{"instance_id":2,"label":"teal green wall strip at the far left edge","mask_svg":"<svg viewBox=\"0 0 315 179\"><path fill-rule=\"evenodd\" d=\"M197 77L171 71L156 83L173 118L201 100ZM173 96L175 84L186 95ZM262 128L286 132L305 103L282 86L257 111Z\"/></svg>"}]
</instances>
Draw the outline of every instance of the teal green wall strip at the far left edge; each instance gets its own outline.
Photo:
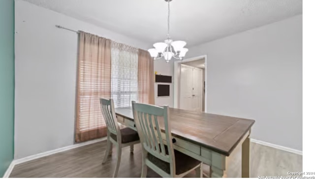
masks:
<instances>
[{"instance_id":1,"label":"teal green wall strip at the far left edge","mask_svg":"<svg viewBox=\"0 0 315 179\"><path fill-rule=\"evenodd\" d=\"M0 177L14 152L14 0L0 0Z\"/></svg>"}]
</instances>

